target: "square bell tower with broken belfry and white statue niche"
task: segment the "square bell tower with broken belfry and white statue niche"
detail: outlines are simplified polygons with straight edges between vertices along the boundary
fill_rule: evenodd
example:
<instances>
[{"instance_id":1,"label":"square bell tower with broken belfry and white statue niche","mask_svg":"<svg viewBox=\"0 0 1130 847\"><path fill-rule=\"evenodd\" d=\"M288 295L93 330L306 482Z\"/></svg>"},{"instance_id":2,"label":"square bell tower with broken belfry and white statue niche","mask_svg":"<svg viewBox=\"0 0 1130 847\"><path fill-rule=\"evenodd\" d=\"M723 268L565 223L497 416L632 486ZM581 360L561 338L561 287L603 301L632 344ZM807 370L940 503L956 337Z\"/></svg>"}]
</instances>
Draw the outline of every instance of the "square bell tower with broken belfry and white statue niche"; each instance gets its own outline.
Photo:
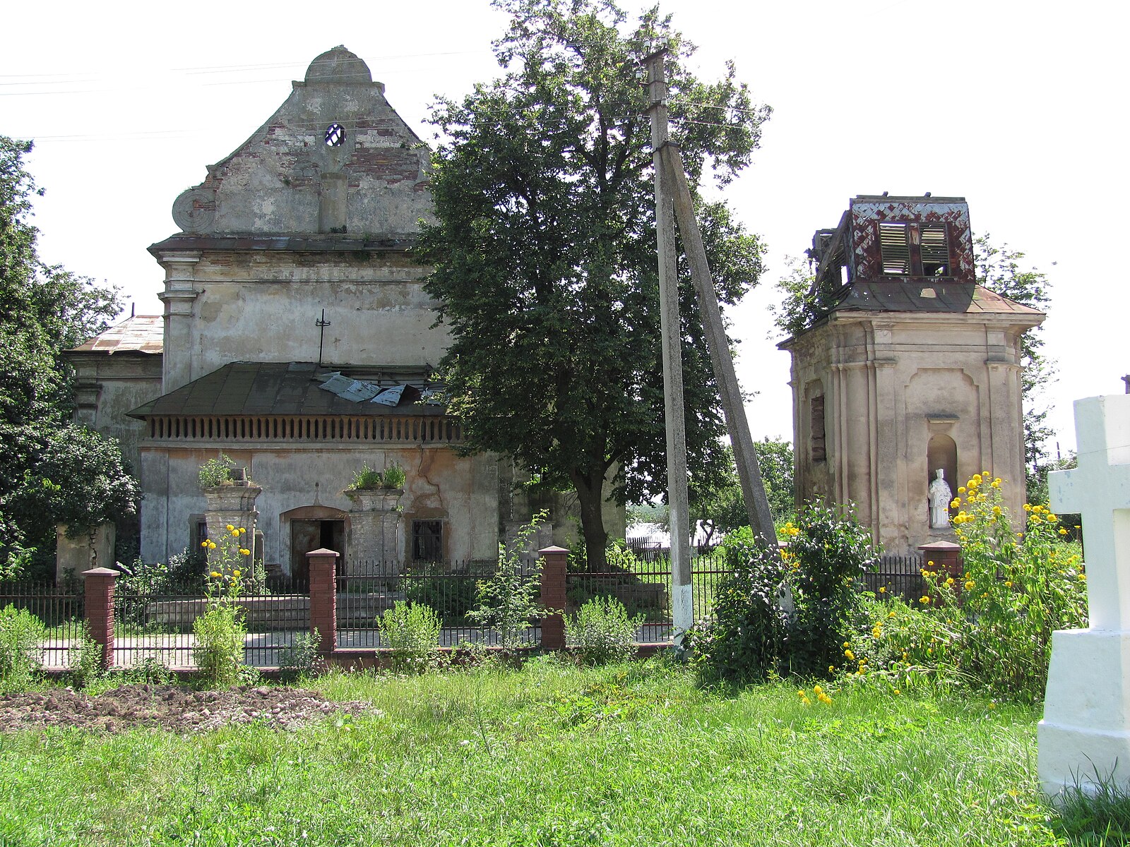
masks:
<instances>
[{"instance_id":1,"label":"square bell tower with broken belfry and white statue niche","mask_svg":"<svg viewBox=\"0 0 1130 847\"><path fill-rule=\"evenodd\" d=\"M1023 515L1020 337L1044 315L976 283L964 198L857 197L809 255L816 311L780 344L798 498L853 503L892 555L953 540L939 470L951 494L990 471Z\"/></svg>"}]
</instances>

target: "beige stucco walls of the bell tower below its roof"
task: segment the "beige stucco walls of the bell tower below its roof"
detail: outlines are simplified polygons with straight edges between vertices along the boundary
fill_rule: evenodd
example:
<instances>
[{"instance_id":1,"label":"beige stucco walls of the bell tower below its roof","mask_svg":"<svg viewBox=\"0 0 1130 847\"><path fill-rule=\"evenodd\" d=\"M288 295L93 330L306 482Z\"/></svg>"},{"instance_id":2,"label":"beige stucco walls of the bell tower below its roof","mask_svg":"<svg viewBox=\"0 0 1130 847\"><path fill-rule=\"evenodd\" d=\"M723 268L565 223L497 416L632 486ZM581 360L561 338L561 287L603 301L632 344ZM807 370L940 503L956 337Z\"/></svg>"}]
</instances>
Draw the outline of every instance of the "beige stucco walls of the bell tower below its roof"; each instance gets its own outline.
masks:
<instances>
[{"instance_id":1,"label":"beige stucco walls of the bell tower below its roof","mask_svg":"<svg viewBox=\"0 0 1130 847\"><path fill-rule=\"evenodd\" d=\"M929 526L932 435L957 446L957 487L989 470L1024 503L1019 337L1011 315L833 313L796 339L798 498L854 503L888 553L951 540ZM814 460L811 398L824 398L825 459Z\"/></svg>"}]
</instances>

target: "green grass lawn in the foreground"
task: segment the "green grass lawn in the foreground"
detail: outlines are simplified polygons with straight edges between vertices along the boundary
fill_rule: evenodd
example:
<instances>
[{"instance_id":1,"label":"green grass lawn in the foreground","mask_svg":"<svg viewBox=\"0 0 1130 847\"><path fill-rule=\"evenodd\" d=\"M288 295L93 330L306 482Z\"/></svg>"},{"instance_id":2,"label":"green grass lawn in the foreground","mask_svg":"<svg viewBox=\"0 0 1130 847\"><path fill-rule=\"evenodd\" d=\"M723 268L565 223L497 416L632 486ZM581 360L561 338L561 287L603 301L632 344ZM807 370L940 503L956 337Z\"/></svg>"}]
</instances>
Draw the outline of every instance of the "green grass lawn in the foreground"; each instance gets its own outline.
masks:
<instances>
[{"instance_id":1,"label":"green grass lawn in the foreground","mask_svg":"<svg viewBox=\"0 0 1130 847\"><path fill-rule=\"evenodd\" d=\"M1066 827L1037 794L1038 713L983 699L805 706L658 660L312 684L381 713L0 735L0 845L1099 845L1110 818Z\"/></svg>"}]
</instances>

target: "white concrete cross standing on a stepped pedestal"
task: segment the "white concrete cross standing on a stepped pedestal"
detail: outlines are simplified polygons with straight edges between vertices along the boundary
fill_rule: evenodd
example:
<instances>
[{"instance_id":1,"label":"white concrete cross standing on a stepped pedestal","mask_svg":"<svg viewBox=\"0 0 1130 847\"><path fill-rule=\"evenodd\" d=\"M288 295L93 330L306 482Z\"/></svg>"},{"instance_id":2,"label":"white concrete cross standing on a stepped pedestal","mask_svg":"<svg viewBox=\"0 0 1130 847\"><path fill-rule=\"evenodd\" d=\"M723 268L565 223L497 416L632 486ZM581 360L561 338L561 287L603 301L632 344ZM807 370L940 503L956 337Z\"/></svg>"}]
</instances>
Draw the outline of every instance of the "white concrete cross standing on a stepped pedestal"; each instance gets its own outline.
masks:
<instances>
[{"instance_id":1,"label":"white concrete cross standing on a stepped pedestal","mask_svg":"<svg viewBox=\"0 0 1130 847\"><path fill-rule=\"evenodd\" d=\"M1130 394L1075 401L1079 466L1048 475L1051 508L1083 515L1090 629L1130 629Z\"/></svg>"}]
</instances>

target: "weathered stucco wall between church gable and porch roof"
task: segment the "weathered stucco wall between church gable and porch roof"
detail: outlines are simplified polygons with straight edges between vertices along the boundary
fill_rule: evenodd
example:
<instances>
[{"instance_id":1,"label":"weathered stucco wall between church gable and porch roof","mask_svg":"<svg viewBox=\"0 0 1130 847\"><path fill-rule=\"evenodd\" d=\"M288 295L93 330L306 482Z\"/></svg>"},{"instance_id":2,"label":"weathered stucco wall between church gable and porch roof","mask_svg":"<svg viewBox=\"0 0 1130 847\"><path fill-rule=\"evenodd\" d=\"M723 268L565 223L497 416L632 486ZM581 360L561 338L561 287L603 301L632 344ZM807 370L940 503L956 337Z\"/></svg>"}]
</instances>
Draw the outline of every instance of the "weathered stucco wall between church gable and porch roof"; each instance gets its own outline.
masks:
<instances>
[{"instance_id":1,"label":"weathered stucco wall between church gable and porch roof","mask_svg":"<svg viewBox=\"0 0 1130 847\"><path fill-rule=\"evenodd\" d=\"M166 299L166 393L229 361L318 361L320 341L327 364L435 365L447 344L446 331L433 328L426 269L403 253L158 257L175 296Z\"/></svg>"}]
</instances>

